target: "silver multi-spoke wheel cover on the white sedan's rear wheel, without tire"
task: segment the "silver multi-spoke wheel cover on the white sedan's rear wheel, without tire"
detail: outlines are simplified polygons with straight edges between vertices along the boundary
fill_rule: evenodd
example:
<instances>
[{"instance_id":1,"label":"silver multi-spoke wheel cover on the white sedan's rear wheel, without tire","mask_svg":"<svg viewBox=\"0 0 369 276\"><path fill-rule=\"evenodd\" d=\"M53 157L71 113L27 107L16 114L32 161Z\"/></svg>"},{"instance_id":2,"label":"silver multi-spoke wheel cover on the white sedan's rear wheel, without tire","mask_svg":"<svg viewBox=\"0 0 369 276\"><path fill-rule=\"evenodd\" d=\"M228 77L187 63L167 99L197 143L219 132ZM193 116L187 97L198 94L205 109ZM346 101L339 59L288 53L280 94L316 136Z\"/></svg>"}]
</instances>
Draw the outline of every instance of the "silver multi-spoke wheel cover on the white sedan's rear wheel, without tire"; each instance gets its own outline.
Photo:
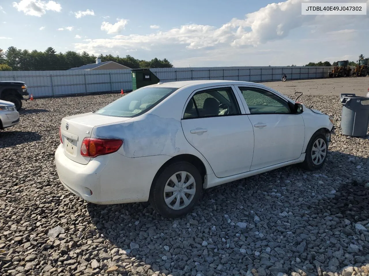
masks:
<instances>
[{"instance_id":1,"label":"silver multi-spoke wheel cover on the white sedan's rear wheel, without tire","mask_svg":"<svg viewBox=\"0 0 369 276\"><path fill-rule=\"evenodd\" d=\"M164 201L173 210L187 207L196 193L196 181L187 171L173 174L165 184Z\"/></svg>"}]
</instances>

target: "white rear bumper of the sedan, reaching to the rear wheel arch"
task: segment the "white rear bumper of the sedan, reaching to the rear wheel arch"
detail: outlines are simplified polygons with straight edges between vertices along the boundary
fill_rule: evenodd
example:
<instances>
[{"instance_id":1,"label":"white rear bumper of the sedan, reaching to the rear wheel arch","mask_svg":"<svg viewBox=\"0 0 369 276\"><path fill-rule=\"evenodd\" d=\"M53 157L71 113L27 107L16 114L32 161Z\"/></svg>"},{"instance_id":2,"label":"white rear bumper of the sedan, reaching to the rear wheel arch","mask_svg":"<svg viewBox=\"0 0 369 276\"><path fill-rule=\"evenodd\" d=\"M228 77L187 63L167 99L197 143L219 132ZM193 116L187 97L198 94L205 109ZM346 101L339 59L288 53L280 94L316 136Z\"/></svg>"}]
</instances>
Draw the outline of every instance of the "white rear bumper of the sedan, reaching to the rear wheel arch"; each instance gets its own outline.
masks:
<instances>
[{"instance_id":1,"label":"white rear bumper of the sedan, reaching to the rear wheel arch","mask_svg":"<svg viewBox=\"0 0 369 276\"><path fill-rule=\"evenodd\" d=\"M94 204L148 201L152 180L166 155L128 158L111 153L80 164L65 156L63 145L55 152L56 171L70 192Z\"/></svg>"}]
</instances>

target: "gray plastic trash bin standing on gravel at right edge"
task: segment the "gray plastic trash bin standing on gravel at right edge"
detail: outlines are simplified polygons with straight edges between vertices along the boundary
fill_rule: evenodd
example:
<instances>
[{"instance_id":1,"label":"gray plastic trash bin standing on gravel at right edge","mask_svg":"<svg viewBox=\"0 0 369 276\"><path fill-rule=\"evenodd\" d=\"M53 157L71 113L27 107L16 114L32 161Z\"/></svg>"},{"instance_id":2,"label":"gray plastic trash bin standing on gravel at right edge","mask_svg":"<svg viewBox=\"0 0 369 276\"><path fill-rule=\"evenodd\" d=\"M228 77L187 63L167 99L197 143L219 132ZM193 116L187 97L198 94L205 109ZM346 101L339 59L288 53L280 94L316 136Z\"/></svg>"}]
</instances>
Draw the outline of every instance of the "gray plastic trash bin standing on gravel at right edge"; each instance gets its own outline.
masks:
<instances>
[{"instance_id":1,"label":"gray plastic trash bin standing on gravel at right edge","mask_svg":"<svg viewBox=\"0 0 369 276\"><path fill-rule=\"evenodd\" d=\"M369 123L369 97L341 94L342 134L353 137L366 136Z\"/></svg>"}]
</instances>

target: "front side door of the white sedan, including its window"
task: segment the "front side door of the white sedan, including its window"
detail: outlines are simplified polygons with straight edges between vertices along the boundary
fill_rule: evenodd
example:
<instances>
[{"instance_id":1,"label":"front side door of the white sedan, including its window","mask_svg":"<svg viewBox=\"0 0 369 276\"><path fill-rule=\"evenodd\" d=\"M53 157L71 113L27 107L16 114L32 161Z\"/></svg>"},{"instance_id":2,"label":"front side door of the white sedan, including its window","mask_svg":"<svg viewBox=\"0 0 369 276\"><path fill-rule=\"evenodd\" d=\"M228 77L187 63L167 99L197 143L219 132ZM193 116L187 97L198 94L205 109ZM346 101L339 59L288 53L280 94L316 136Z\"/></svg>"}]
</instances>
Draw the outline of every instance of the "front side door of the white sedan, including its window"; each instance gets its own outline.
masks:
<instances>
[{"instance_id":1,"label":"front side door of the white sedan, including its window","mask_svg":"<svg viewBox=\"0 0 369 276\"><path fill-rule=\"evenodd\" d=\"M238 86L245 110L254 128L254 155L251 170L298 159L305 125L301 114L294 114L286 99L256 86Z\"/></svg>"}]
</instances>

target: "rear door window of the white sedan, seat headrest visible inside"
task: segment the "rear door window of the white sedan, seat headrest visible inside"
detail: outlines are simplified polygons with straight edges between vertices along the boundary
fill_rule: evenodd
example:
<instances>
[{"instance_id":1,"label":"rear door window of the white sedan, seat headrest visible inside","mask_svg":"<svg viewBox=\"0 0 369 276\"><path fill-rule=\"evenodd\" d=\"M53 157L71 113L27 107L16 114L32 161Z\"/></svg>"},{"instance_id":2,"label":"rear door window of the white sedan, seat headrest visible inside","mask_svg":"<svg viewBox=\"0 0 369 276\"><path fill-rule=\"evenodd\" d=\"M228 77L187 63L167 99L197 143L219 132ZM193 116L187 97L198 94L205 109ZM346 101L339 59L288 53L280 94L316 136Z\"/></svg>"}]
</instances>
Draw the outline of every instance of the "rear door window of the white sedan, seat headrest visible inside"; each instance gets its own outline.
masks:
<instances>
[{"instance_id":1,"label":"rear door window of the white sedan, seat headrest visible inside","mask_svg":"<svg viewBox=\"0 0 369 276\"><path fill-rule=\"evenodd\" d=\"M232 88L217 88L195 93L184 110L183 118L241 114Z\"/></svg>"}]
</instances>

